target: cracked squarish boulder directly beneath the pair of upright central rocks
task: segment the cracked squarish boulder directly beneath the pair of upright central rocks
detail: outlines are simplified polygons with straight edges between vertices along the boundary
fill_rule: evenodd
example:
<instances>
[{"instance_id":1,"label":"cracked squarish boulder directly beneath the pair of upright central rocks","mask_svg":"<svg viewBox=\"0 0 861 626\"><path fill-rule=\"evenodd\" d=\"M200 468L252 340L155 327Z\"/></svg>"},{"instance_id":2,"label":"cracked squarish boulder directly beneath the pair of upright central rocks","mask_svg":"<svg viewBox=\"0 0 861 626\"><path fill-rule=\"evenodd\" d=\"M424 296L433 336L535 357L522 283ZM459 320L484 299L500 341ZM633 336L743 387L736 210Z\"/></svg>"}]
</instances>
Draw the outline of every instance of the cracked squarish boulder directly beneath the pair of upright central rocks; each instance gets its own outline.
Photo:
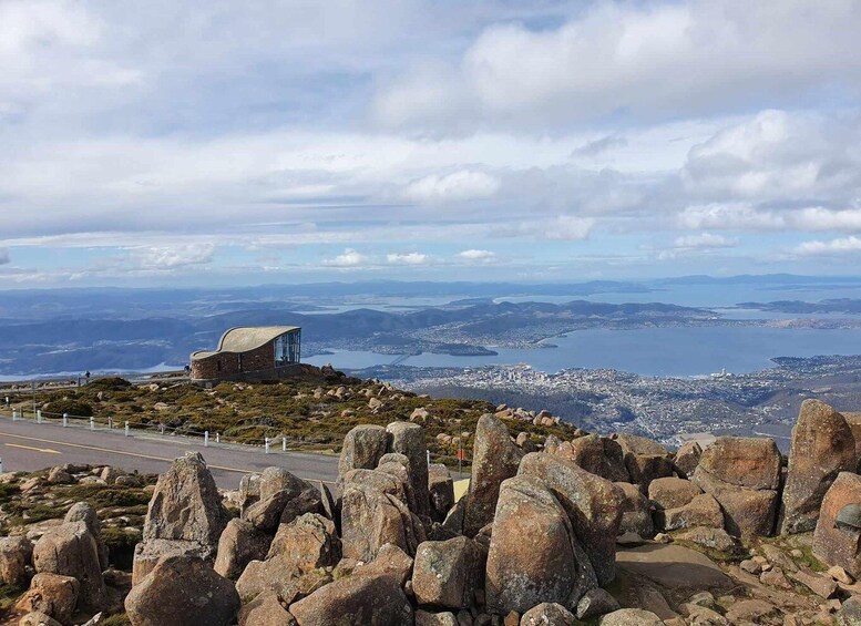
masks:
<instances>
[{"instance_id":1,"label":"cracked squarish boulder directly beneath the pair of upright central rocks","mask_svg":"<svg viewBox=\"0 0 861 626\"><path fill-rule=\"evenodd\" d=\"M416 554L421 523L407 506L406 485L376 470L352 470L344 476L341 547L344 556L370 562L379 548L391 543Z\"/></svg>"}]
</instances>

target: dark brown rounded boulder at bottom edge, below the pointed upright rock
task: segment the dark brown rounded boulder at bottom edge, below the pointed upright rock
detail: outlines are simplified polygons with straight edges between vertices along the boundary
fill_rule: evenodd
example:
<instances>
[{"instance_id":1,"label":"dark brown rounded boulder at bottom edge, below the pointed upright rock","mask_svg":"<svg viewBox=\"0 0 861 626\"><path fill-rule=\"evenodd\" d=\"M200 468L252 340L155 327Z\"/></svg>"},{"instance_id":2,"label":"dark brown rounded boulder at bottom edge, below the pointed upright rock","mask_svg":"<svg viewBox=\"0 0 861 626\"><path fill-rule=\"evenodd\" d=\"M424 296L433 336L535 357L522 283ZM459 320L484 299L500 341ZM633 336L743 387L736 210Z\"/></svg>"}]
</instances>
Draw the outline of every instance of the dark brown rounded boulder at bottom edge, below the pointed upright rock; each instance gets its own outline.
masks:
<instances>
[{"instance_id":1,"label":"dark brown rounded boulder at bottom edge, below the pointed upright rock","mask_svg":"<svg viewBox=\"0 0 861 626\"><path fill-rule=\"evenodd\" d=\"M167 556L125 598L132 626L228 626L239 595L202 558Z\"/></svg>"}]
</instances>

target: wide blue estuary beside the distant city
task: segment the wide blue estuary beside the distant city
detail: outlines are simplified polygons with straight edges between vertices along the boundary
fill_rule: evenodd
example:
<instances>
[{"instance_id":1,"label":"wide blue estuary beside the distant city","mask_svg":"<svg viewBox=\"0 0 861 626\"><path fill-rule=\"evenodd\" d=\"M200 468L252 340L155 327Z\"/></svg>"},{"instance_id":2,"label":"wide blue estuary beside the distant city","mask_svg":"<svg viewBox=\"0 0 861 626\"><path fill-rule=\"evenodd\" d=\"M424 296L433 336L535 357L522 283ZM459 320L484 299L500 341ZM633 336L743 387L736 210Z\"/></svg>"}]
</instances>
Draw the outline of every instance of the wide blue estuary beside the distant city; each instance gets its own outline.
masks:
<instances>
[{"instance_id":1,"label":"wide blue estuary beside the distant city","mask_svg":"<svg viewBox=\"0 0 861 626\"><path fill-rule=\"evenodd\" d=\"M761 327L588 329L546 341L557 348L499 349L489 357L423 353L416 357L345 350L304 361L361 369L398 361L417 367L481 367L527 363L550 373L566 368L616 369L645 376L704 376L726 369L745 373L772 367L772 357L861 355L861 331ZM490 347L490 346L489 346ZM490 347L492 348L492 347Z\"/></svg>"}]
</instances>

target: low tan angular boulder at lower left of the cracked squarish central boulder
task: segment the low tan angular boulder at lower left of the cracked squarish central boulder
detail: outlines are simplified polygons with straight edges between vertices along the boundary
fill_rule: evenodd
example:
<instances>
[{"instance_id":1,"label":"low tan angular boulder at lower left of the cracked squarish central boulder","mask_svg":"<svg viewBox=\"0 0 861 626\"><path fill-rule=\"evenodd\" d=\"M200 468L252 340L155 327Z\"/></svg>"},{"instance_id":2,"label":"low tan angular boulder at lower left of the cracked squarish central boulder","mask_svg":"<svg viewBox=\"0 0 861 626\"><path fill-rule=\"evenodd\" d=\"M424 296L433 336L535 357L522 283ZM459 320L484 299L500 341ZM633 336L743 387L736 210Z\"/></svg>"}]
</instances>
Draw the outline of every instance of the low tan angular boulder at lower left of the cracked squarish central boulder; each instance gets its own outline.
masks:
<instances>
[{"instance_id":1,"label":"low tan angular boulder at lower left of the cracked squarish central boulder","mask_svg":"<svg viewBox=\"0 0 861 626\"><path fill-rule=\"evenodd\" d=\"M306 513L289 524L281 524L267 558L276 555L285 555L303 572L335 565L341 558L341 542L335 531L335 522L316 513Z\"/></svg>"}]
</instances>

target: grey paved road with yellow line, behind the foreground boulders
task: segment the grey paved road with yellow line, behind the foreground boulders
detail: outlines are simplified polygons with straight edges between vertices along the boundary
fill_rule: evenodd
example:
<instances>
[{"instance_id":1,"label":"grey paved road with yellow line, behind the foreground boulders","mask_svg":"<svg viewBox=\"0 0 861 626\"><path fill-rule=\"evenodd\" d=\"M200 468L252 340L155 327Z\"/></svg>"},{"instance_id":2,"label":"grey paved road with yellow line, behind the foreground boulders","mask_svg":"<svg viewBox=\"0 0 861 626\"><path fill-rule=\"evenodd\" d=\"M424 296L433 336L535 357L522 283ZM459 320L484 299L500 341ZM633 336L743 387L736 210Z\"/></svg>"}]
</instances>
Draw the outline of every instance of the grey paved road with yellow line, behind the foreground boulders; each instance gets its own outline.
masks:
<instances>
[{"instance_id":1,"label":"grey paved road with yellow line, behind the foreground boulders","mask_svg":"<svg viewBox=\"0 0 861 626\"><path fill-rule=\"evenodd\" d=\"M243 474L259 472L270 465L285 468L303 479L327 483L334 483L338 478L338 459L331 455L281 452L275 447L270 454L263 448L253 447L211 444L204 448L199 440L135 431L132 437L124 437L121 430L90 431L85 427L13 422L9 417L0 417L0 459L7 472L89 463L162 473L186 450L203 454L215 482L223 489L236 489Z\"/></svg>"}]
</instances>

